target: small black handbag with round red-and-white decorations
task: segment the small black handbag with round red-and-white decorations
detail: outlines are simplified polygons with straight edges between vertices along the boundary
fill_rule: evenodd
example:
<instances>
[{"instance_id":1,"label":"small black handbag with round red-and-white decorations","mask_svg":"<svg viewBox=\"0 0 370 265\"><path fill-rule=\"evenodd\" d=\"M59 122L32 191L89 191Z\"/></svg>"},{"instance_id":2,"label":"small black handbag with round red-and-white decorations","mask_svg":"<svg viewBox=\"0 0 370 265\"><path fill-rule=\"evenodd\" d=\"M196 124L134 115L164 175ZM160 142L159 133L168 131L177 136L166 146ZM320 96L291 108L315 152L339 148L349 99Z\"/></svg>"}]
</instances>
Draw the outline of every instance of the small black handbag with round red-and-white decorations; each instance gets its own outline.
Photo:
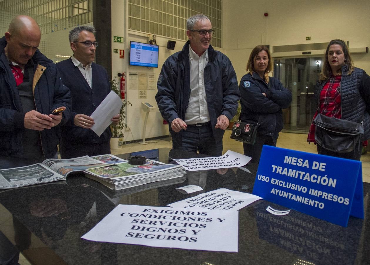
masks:
<instances>
[{"instance_id":1,"label":"small black handbag with round red-and-white decorations","mask_svg":"<svg viewBox=\"0 0 370 265\"><path fill-rule=\"evenodd\" d=\"M250 122L234 122L232 126L231 139L254 145L257 136L258 124Z\"/></svg>"}]
</instances>

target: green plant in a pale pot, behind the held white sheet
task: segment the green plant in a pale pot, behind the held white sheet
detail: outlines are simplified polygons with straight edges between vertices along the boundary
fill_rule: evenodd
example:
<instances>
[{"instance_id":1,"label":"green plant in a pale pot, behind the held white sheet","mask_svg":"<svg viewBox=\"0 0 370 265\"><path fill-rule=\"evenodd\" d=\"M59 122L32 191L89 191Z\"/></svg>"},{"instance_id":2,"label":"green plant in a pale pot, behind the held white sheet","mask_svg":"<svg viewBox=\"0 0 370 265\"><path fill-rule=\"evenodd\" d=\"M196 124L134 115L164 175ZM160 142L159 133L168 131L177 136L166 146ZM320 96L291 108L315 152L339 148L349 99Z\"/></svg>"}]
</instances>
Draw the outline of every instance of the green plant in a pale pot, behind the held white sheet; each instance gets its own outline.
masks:
<instances>
[{"instance_id":1,"label":"green plant in a pale pot, behind the held white sheet","mask_svg":"<svg viewBox=\"0 0 370 265\"><path fill-rule=\"evenodd\" d=\"M110 80L111 83L111 89L114 93L116 93L121 99L121 91L120 91L120 82L117 81L117 77L113 77L112 80ZM127 100L122 101L122 107L120 109L120 115L121 115L121 120L117 125L114 125L113 123L111 124L111 131L112 131L112 138L111 138L111 149L120 149L122 148L123 144L123 132L124 129L127 127L127 124L124 122L126 118L126 112L125 112L125 107L127 105L132 106L131 102Z\"/></svg>"}]
</instances>

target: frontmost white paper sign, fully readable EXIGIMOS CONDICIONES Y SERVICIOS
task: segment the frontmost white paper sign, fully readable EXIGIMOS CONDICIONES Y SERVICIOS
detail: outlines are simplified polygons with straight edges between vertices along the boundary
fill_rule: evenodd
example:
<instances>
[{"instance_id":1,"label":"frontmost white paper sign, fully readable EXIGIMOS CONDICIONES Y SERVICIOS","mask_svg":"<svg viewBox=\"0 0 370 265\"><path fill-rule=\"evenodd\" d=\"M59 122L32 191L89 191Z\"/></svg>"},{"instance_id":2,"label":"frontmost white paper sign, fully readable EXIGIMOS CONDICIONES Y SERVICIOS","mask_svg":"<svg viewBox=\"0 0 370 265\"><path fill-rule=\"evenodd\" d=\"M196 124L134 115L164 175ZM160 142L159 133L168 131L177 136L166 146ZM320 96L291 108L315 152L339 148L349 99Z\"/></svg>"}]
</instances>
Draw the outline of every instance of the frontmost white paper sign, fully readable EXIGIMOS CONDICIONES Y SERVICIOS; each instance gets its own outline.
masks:
<instances>
[{"instance_id":1,"label":"frontmost white paper sign, fully readable EXIGIMOS CONDICIONES Y SERVICIOS","mask_svg":"<svg viewBox=\"0 0 370 265\"><path fill-rule=\"evenodd\" d=\"M162 248L238 252L238 212L117 205L81 238Z\"/></svg>"}]
</instances>

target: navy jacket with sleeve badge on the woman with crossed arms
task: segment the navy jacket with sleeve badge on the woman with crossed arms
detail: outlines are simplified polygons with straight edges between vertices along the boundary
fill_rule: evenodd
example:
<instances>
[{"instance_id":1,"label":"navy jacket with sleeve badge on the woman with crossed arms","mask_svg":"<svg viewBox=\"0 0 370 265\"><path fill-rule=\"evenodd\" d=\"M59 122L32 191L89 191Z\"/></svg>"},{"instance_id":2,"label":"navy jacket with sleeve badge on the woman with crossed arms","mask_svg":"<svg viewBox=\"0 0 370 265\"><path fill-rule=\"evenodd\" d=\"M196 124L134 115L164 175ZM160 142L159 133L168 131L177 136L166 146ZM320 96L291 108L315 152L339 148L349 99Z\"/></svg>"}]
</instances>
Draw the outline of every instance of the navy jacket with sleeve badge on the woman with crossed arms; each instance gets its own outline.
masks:
<instances>
[{"instance_id":1,"label":"navy jacket with sleeve badge on the woman with crossed arms","mask_svg":"<svg viewBox=\"0 0 370 265\"><path fill-rule=\"evenodd\" d=\"M292 93L279 79L269 77L267 84L257 73L245 74L240 80L240 120L259 123L258 133L270 135L276 141L283 129L282 109L289 107ZM264 96L262 93L266 93Z\"/></svg>"}]
</instances>

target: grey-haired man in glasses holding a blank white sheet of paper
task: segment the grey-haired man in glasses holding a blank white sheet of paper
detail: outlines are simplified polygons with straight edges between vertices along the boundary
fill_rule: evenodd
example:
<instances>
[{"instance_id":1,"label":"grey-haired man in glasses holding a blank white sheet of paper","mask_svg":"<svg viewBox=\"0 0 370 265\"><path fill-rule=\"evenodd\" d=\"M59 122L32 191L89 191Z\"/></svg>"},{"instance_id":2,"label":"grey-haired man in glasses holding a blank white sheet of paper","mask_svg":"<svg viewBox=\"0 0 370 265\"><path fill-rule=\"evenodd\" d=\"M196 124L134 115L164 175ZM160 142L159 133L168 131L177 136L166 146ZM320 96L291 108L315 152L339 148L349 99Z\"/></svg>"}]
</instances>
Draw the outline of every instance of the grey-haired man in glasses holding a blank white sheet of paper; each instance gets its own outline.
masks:
<instances>
[{"instance_id":1,"label":"grey-haired man in glasses holding a blank white sheet of paper","mask_svg":"<svg viewBox=\"0 0 370 265\"><path fill-rule=\"evenodd\" d=\"M71 90L72 113L62 127L59 146L61 158L109 154L111 130L108 127L98 136L90 128L94 119L90 115L111 91L107 71L93 63L95 40L93 26L78 26L70 31L69 41L73 56L57 63L63 83ZM114 124L120 115L111 119Z\"/></svg>"}]
</instances>

